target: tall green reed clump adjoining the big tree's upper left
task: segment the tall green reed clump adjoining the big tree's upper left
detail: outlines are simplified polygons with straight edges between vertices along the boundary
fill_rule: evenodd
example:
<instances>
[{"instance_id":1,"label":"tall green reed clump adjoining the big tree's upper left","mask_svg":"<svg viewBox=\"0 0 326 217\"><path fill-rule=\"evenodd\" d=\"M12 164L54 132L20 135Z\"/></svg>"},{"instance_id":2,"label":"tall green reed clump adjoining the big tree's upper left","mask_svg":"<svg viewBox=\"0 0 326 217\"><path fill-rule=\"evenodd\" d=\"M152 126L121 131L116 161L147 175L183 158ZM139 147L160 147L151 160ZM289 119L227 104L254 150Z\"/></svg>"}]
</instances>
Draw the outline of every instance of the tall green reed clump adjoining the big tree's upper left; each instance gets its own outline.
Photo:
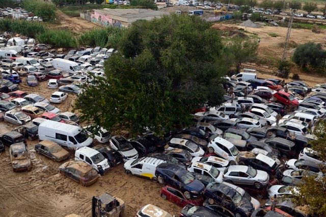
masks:
<instances>
[{"instance_id":1,"label":"tall green reed clump adjoining the big tree's upper left","mask_svg":"<svg viewBox=\"0 0 326 217\"><path fill-rule=\"evenodd\" d=\"M121 38L125 29L119 29L114 27L94 29L83 33L79 37L80 45L87 45L91 47L101 46L117 48L119 38Z\"/></svg>"}]
</instances>

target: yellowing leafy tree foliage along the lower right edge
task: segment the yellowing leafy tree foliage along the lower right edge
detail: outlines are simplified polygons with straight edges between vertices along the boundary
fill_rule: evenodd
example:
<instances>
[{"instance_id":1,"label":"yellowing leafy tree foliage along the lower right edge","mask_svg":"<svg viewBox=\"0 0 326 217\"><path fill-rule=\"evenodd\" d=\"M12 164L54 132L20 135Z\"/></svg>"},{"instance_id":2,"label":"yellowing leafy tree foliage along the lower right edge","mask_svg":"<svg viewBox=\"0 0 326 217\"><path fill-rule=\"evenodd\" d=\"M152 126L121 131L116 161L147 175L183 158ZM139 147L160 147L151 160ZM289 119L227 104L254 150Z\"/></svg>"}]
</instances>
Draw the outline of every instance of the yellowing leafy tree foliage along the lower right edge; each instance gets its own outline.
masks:
<instances>
[{"instance_id":1,"label":"yellowing leafy tree foliage along the lower right edge","mask_svg":"<svg viewBox=\"0 0 326 217\"><path fill-rule=\"evenodd\" d=\"M326 161L326 122L320 122L314 129L317 140L311 142L313 150L317 151L320 160ZM324 167L320 165L320 167ZM326 172L326 171L323 171ZM326 176L304 176L298 185L300 191L293 191L296 197L291 197L295 205L303 204L310 208L312 216L324 216L326 213Z\"/></svg>"}]
</instances>

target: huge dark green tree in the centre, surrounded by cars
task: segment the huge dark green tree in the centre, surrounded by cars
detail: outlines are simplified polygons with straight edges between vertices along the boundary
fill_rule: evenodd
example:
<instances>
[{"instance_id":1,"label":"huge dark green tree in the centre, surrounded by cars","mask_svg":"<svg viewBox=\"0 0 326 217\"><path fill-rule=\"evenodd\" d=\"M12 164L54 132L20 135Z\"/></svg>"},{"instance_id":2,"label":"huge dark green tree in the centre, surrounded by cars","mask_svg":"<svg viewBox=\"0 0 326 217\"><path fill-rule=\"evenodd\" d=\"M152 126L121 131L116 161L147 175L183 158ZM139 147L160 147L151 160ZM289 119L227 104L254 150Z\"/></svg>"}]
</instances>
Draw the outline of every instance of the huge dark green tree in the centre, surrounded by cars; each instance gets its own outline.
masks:
<instances>
[{"instance_id":1,"label":"huge dark green tree in the centre, surrounded by cars","mask_svg":"<svg viewBox=\"0 0 326 217\"><path fill-rule=\"evenodd\" d=\"M229 63L210 25L177 15L132 23L119 52L105 62L105 77L78 96L82 120L134 135L146 127L162 134L189 123L189 114L204 103L221 103Z\"/></svg>"}]
</instances>

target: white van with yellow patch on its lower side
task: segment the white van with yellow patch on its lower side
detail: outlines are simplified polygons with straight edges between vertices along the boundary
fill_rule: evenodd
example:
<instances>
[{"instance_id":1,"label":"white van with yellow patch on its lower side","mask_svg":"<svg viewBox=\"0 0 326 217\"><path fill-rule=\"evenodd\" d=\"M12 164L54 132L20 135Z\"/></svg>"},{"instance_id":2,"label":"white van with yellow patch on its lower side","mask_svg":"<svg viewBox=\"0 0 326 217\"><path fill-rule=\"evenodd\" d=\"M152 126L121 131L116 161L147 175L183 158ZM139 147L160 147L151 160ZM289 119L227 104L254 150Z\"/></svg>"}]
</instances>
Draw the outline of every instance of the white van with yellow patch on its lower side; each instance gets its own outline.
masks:
<instances>
[{"instance_id":1,"label":"white van with yellow patch on its lower side","mask_svg":"<svg viewBox=\"0 0 326 217\"><path fill-rule=\"evenodd\" d=\"M164 162L166 161L156 157L142 157L138 159L127 160L124 163L123 168L128 175L132 174L136 176L142 176L156 182L156 167Z\"/></svg>"}]
</instances>

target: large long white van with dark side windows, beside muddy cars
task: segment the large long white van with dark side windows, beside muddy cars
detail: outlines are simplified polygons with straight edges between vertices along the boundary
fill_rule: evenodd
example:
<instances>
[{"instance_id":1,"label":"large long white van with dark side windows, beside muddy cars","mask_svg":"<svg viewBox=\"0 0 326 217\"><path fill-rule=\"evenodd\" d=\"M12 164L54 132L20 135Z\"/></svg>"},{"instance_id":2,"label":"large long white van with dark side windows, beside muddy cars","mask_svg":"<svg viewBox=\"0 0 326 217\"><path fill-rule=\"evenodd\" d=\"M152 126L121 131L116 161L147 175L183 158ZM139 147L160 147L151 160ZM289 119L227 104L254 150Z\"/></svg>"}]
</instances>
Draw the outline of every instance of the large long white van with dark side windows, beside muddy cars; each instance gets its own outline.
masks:
<instances>
[{"instance_id":1,"label":"large long white van with dark side windows, beside muddy cars","mask_svg":"<svg viewBox=\"0 0 326 217\"><path fill-rule=\"evenodd\" d=\"M93 139L88 137L82 127L51 120L39 125L39 139L50 140L72 149L93 146Z\"/></svg>"}]
</instances>

